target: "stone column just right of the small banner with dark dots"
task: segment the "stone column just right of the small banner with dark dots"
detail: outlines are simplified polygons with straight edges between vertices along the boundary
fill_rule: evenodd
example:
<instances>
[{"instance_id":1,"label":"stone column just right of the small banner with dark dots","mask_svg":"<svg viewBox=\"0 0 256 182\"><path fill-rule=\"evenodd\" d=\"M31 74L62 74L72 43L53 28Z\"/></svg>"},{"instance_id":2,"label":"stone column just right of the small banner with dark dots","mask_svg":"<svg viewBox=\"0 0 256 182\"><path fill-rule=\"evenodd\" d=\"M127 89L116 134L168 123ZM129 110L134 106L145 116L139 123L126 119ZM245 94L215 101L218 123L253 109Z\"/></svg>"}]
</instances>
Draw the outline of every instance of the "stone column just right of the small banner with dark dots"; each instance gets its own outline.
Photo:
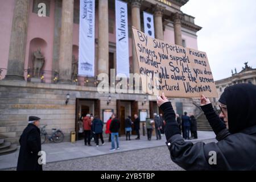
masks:
<instances>
[{"instance_id":1,"label":"stone column just right of the small banner with dark dots","mask_svg":"<svg viewBox=\"0 0 256 182\"><path fill-rule=\"evenodd\" d=\"M155 38L163 40L163 13L165 7L158 4L155 5L154 11L154 23L155 23Z\"/></svg>"}]
</instances>

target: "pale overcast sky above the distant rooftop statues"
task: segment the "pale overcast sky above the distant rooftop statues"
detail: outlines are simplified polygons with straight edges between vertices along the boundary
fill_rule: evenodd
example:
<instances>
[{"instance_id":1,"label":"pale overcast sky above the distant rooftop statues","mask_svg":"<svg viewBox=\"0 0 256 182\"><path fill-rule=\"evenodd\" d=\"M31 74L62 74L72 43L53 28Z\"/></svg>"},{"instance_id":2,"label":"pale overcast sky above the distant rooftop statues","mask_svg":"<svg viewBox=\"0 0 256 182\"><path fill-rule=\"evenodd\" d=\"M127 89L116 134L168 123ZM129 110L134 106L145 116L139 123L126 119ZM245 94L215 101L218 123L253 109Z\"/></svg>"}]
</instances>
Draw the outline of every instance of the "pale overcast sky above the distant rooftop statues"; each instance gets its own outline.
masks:
<instances>
[{"instance_id":1,"label":"pale overcast sky above the distant rooftop statues","mask_svg":"<svg viewBox=\"0 0 256 182\"><path fill-rule=\"evenodd\" d=\"M245 61L256 68L256 1L189 0L181 7L203 27L197 32L200 51L207 52L214 80L240 72Z\"/></svg>"}]
</instances>

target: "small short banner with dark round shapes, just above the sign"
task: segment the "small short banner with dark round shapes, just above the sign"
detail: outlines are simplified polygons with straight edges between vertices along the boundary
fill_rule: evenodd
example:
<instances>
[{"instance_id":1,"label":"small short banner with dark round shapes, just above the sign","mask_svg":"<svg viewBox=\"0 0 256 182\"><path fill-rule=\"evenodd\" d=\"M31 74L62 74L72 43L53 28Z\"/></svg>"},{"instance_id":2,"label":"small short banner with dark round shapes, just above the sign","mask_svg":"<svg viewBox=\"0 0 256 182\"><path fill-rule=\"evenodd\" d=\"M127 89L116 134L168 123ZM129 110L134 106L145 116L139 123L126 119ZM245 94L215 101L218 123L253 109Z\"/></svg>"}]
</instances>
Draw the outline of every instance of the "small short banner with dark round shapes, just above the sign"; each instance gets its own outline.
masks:
<instances>
[{"instance_id":1,"label":"small short banner with dark round shapes, just above the sign","mask_svg":"<svg viewBox=\"0 0 256 182\"><path fill-rule=\"evenodd\" d=\"M143 19L144 19L144 33L151 36L151 38L155 38L155 28L154 28L154 16L143 11Z\"/></svg>"}]
</instances>

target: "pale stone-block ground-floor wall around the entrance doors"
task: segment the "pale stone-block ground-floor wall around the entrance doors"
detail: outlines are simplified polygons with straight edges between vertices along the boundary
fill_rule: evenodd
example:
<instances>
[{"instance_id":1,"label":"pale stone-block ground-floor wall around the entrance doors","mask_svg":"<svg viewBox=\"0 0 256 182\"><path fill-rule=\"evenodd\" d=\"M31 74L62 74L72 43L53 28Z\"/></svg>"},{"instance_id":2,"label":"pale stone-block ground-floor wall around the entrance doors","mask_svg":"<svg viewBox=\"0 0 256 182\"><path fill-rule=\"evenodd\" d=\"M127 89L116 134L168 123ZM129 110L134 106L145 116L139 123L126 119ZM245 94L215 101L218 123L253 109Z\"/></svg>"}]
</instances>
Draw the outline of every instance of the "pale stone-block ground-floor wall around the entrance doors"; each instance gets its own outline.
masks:
<instances>
[{"instance_id":1,"label":"pale stone-block ground-floor wall around the entrance doors","mask_svg":"<svg viewBox=\"0 0 256 182\"><path fill-rule=\"evenodd\" d=\"M60 129L65 140L75 131L76 98L100 99L102 109L117 111L116 100L137 100L139 109L147 109L146 102L142 106L143 94L100 94L94 87L76 85L42 84L25 81L0 81L0 138L18 142L23 129L27 126L28 117L36 115L41 118L40 125L47 125L47 132L52 128ZM66 95L70 94L68 105ZM107 105L108 97L112 101ZM142 130L142 128L141 128ZM142 131L141 131L142 132Z\"/></svg>"}]
</instances>

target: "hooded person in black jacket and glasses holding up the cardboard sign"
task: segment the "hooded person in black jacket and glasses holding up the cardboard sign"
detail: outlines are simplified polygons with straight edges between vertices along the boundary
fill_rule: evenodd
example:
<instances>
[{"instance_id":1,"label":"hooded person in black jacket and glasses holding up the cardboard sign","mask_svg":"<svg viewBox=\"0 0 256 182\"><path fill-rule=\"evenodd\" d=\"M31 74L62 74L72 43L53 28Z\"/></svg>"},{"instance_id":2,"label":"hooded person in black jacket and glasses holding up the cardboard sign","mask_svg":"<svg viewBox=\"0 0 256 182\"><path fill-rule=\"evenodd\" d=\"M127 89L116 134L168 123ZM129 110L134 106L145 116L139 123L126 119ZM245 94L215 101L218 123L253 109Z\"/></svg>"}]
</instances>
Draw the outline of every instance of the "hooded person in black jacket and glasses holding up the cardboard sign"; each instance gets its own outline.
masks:
<instances>
[{"instance_id":1,"label":"hooded person in black jacket and glasses holding up the cardboard sign","mask_svg":"<svg viewBox=\"0 0 256 182\"><path fill-rule=\"evenodd\" d=\"M166 144L172 161L187 170L256 170L256 85L236 84L225 88L218 100L219 116L208 98L202 95L200 101L217 143L185 142L171 102L164 94L158 97L158 106L167 122Z\"/></svg>"}]
</instances>

